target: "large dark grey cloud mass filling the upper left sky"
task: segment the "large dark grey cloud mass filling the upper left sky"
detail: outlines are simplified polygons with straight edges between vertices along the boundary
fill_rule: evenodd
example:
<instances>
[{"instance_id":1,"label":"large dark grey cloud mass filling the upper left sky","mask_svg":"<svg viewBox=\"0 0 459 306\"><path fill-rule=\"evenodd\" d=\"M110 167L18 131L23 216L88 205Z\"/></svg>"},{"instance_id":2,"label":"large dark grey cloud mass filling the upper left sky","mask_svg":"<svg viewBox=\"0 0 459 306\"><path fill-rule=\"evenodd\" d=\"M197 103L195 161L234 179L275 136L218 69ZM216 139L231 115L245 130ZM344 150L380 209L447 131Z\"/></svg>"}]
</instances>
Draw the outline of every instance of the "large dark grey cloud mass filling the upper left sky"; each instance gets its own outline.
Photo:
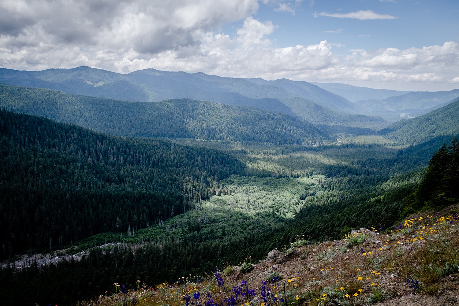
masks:
<instances>
[{"instance_id":1,"label":"large dark grey cloud mass filling the upper left sky","mask_svg":"<svg viewBox=\"0 0 459 306\"><path fill-rule=\"evenodd\" d=\"M0 3L0 46L48 43L154 54L198 45L202 33L257 9L257 0L6 0ZM37 42L37 35L44 40Z\"/></svg>"}]
</instances>

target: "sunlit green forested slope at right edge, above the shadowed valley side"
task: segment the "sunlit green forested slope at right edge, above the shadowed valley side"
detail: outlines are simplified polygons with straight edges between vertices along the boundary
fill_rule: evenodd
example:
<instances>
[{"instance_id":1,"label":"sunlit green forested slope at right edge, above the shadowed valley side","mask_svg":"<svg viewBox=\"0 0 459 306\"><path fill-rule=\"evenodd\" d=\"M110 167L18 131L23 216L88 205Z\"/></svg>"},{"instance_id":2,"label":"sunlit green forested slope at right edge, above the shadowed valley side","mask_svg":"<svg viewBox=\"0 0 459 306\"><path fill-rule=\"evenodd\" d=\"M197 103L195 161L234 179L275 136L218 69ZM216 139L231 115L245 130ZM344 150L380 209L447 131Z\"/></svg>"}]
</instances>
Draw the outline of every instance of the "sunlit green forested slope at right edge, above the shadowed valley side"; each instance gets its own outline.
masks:
<instances>
[{"instance_id":1,"label":"sunlit green forested slope at right edge, above the shadowed valley side","mask_svg":"<svg viewBox=\"0 0 459 306\"><path fill-rule=\"evenodd\" d=\"M459 134L459 100L428 114L395 122L380 132L401 145L417 145L442 135Z\"/></svg>"}]
</instances>

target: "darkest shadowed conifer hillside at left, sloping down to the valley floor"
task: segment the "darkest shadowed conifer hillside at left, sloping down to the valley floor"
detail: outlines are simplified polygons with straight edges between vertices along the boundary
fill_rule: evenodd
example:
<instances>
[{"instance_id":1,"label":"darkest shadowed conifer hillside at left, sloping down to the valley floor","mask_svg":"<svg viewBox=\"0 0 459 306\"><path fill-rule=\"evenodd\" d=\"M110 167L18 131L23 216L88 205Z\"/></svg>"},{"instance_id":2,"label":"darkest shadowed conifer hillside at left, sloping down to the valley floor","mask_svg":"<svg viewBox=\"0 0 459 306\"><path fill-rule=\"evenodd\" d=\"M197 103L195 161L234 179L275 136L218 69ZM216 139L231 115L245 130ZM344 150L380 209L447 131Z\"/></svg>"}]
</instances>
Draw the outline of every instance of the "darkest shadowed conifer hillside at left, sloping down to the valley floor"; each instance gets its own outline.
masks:
<instances>
[{"instance_id":1,"label":"darkest shadowed conifer hillside at left, sloping down to the valley floor","mask_svg":"<svg viewBox=\"0 0 459 306\"><path fill-rule=\"evenodd\" d=\"M7 111L0 139L3 258L162 222L244 169L216 150L109 137Z\"/></svg>"}]
</instances>

